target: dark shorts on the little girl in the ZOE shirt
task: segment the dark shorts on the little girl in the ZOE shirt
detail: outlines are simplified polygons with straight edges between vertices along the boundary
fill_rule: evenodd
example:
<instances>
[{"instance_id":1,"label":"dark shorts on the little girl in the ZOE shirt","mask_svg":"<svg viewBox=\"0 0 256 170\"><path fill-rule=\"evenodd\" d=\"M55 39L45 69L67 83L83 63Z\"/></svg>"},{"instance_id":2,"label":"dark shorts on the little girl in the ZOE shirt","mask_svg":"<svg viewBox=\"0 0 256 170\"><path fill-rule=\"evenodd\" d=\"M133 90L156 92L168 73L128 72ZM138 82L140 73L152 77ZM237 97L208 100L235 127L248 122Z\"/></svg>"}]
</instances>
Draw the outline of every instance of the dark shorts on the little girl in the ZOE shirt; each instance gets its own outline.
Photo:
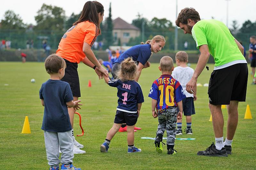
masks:
<instances>
[{"instance_id":1,"label":"dark shorts on the little girl in the ZOE shirt","mask_svg":"<svg viewBox=\"0 0 256 170\"><path fill-rule=\"evenodd\" d=\"M133 126L137 123L138 113L128 113L120 110L116 110L115 124L125 124L127 126Z\"/></svg>"}]
</instances>

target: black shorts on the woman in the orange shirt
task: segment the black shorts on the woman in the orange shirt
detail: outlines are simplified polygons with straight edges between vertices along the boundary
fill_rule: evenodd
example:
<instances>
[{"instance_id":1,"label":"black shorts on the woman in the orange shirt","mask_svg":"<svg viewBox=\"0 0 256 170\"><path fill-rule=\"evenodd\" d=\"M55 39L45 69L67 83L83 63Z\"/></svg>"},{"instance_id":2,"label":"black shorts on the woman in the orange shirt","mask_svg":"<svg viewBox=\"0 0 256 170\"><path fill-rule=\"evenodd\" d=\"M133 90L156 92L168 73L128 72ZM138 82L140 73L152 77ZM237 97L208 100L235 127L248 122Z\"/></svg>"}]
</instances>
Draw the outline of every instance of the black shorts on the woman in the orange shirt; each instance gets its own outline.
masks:
<instances>
[{"instance_id":1,"label":"black shorts on the woman in the orange shirt","mask_svg":"<svg viewBox=\"0 0 256 170\"><path fill-rule=\"evenodd\" d=\"M65 60L65 59L64 59ZM66 61L67 68L65 69L65 75L61 81L66 81L70 85L72 95L76 97L81 97L79 77L77 73L77 63L72 63L68 60Z\"/></svg>"}]
</instances>

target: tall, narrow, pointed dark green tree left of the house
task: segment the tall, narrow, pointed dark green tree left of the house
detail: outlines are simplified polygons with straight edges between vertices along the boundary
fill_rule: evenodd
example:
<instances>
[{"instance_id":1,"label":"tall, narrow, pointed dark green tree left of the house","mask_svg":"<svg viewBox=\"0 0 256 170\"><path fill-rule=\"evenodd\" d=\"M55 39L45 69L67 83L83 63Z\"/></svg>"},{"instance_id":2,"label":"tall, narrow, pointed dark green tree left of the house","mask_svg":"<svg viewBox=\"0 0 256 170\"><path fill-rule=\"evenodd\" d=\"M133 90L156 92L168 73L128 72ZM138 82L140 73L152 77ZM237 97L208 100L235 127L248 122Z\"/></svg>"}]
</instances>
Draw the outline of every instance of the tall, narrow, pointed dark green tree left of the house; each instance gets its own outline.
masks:
<instances>
[{"instance_id":1,"label":"tall, narrow, pointed dark green tree left of the house","mask_svg":"<svg viewBox=\"0 0 256 170\"><path fill-rule=\"evenodd\" d=\"M112 15L111 15L111 3L109 4L109 15L106 21L107 24L107 32L106 32L106 47L109 48L109 46L113 43L113 23L112 23Z\"/></svg>"}]
</instances>

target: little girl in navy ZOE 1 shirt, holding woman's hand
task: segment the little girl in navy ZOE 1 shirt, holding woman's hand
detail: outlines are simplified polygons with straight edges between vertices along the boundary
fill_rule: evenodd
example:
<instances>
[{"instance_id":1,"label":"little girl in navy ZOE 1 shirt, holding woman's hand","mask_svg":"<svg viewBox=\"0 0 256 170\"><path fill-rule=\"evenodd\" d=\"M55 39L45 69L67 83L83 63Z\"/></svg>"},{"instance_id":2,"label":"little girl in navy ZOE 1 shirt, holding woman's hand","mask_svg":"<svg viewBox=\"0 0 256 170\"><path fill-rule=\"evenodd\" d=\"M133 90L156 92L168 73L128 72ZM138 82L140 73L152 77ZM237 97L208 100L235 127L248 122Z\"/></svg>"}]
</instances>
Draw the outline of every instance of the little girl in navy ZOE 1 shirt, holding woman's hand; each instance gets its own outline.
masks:
<instances>
[{"instance_id":1,"label":"little girl in navy ZOE 1 shirt, holding woman's hand","mask_svg":"<svg viewBox=\"0 0 256 170\"><path fill-rule=\"evenodd\" d=\"M140 116L141 104L144 102L140 84L134 81L136 76L137 64L130 57L122 61L121 68L117 72L118 79L110 80L103 76L109 86L117 88L118 106L113 127L108 131L104 143L100 146L100 152L108 152L111 139L124 123L127 125L128 153L141 151L134 146L134 126Z\"/></svg>"}]
</instances>

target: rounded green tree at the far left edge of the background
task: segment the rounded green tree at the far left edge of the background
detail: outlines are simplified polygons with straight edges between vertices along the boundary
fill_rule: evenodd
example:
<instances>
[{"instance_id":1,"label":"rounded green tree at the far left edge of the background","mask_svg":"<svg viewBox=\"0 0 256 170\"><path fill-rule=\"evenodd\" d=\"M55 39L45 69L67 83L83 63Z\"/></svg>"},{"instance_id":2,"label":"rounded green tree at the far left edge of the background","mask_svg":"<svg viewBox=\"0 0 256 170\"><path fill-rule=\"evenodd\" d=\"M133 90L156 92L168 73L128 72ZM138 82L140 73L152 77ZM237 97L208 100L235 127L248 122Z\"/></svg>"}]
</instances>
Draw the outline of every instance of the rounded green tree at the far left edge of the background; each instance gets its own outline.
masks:
<instances>
[{"instance_id":1,"label":"rounded green tree at the far left edge of the background","mask_svg":"<svg viewBox=\"0 0 256 170\"><path fill-rule=\"evenodd\" d=\"M4 13L4 19L1 20L1 29L17 29L24 30L26 25L23 23L19 14L15 14L14 11L8 10Z\"/></svg>"}]
</instances>

